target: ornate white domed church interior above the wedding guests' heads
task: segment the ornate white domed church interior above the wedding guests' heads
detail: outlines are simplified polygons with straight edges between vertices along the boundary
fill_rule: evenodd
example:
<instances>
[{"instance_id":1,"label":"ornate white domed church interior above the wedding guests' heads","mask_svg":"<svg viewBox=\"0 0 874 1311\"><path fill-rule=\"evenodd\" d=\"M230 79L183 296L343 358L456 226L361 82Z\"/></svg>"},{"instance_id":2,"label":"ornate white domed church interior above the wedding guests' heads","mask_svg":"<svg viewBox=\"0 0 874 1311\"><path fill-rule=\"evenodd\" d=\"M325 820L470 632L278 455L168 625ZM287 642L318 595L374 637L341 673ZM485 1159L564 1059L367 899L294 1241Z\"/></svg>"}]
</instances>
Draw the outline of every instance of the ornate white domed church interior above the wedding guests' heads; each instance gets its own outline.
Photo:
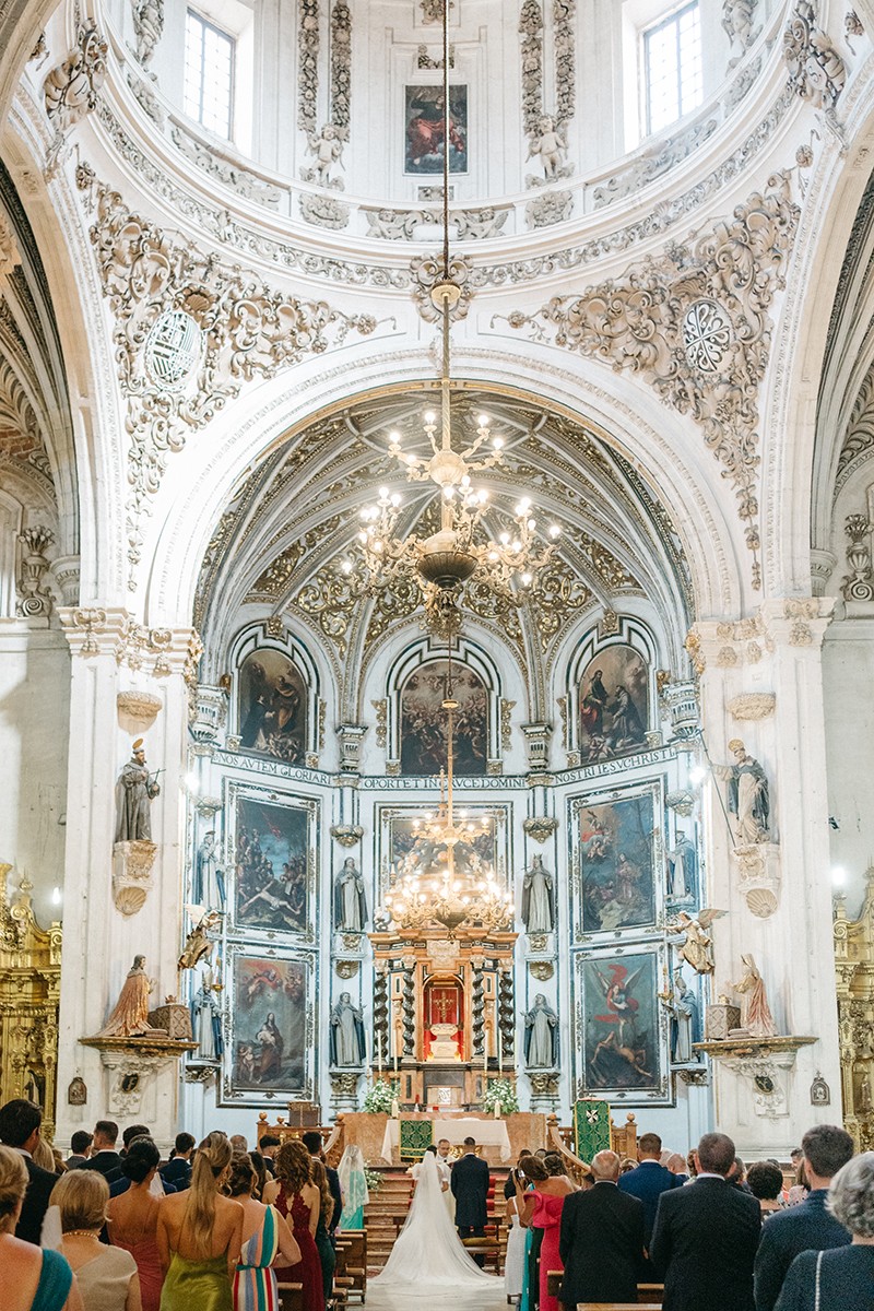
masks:
<instances>
[{"instance_id":1,"label":"ornate white domed church interior above the wedding guests' heads","mask_svg":"<svg viewBox=\"0 0 874 1311\"><path fill-rule=\"evenodd\" d=\"M874 1148L853 3L0 4L0 1101L64 1151Z\"/></svg>"}]
</instances>

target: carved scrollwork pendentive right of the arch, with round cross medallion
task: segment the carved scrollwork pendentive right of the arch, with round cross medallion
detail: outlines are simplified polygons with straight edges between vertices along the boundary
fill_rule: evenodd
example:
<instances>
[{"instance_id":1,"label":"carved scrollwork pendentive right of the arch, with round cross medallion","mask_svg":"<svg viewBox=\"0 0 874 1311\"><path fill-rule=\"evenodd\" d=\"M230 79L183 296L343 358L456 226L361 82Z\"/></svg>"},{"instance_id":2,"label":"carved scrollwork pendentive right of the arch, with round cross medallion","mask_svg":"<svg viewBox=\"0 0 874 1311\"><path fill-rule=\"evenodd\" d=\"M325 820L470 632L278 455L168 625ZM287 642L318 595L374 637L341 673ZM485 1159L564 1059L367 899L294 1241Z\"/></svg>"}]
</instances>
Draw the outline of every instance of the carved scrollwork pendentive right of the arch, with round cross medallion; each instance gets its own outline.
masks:
<instances>
[{"instance_id":1,"label":"carved scrollwork pendentive right of the arch, with round cross medallion","mask_svg":"<svg viewBox=\"0 0 874 1311\"><path fill-rule=\"evenodd\" d=\"M774 174L769 185L714 232L693 233L580 296L554 296L535 316L508 319L511 328L528 326L535 336L544 336L546 324L557 345L637 374L666 405L700 425L734 488L755 587L761 586L759 387L770 346L769 309L785 284L799 215L789 174Z\"/></svg>"}]
</instances>

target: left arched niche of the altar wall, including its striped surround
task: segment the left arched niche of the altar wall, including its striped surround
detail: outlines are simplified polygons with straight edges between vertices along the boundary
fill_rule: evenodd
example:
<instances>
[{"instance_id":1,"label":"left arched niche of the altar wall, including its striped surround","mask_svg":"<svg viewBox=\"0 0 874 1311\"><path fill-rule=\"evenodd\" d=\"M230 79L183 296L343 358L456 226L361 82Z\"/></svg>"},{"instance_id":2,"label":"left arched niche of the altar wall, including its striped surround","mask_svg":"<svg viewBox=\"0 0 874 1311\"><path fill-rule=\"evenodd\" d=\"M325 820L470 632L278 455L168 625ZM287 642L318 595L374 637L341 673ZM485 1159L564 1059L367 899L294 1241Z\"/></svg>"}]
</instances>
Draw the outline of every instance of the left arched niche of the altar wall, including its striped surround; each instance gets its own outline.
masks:
<instances>
[{"instance_id":1,"label":"left arched niche of the altar wall, including its striped surround","mask_svg":"<svg viewBox=\"0 0 874 1311\"><path fill-rule=\"evenodd\" d=\"M320 750L320 676L305 645L258 624L231 652L233 732L240 751L290 764L314 763ZM309 760L308 760L309 758Z\"/></svg>"}]
</instances>

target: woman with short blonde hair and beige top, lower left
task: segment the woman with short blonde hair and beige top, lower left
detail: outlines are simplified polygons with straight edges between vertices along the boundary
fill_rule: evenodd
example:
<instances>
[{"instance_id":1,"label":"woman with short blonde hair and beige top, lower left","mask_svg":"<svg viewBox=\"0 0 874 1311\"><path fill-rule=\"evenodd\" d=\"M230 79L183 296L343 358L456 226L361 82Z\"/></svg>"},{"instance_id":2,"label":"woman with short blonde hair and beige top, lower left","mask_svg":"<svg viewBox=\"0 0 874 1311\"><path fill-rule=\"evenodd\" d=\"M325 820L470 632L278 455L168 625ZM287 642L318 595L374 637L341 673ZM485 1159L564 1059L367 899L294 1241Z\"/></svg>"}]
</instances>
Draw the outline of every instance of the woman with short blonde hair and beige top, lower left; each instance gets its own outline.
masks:
<instances>
[{"instance_id":1,"label":"woman with short blonde hair and beige top, lower left","mask_svg":"<svg viewBox=\"0 0 874 1311\"><path fill-rule=\"evenodd\" d=\"M142 1311L140 1278L130 1252L101 1243L109 1184L96 1169L71 1169L48 1205L60 1211L62 1251L76 1276L85 1311Z\"/></svg>"}]
</instances>

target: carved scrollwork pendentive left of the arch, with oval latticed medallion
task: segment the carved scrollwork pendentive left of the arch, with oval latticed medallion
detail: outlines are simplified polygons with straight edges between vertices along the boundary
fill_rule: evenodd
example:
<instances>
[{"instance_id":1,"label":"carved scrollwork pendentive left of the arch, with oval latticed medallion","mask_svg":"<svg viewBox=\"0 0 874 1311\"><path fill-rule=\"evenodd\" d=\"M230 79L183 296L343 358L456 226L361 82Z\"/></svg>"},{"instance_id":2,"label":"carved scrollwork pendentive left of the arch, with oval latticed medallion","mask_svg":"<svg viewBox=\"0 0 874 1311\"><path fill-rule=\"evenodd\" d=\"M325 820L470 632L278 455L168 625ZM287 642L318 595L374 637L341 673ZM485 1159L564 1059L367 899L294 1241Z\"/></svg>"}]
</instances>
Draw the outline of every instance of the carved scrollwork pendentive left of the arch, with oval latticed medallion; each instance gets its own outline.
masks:
<instances>
[{"instance_id":1,"label":"carved scrollwork pendentive left of the arch, with oval latticed medallion","mask_svg":"<svg viewBox=\"0 0 874 1311\"><path fill-rule=\"evenodd\" d=\"M93 173L77 170L93 193ZM238 266L173 241L132 214L118 191L96 187L90 229L104 294L115 320L118 375L127 399L128 587L140 560L140 523L159 490L170 451L203 427L242 384L271 378L351 330L371 333L370 316L347 316L326 302L274 291Z\"/></svg>"}]
</instances>

